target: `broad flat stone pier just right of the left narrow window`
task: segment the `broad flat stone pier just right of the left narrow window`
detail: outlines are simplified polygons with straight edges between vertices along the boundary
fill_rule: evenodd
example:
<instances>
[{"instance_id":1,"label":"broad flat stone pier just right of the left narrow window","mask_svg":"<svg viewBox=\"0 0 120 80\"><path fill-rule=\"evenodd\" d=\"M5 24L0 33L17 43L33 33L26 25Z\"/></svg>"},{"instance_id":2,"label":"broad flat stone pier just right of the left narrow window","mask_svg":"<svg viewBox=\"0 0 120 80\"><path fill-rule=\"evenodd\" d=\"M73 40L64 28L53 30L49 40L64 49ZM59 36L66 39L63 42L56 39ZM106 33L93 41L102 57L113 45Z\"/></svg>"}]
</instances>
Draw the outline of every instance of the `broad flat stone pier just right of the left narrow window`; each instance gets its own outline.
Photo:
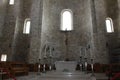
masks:
<instances>
[{"instance_id":1,"label":"broad flat stone pier just right of the left narrow window","mask_svg":"<svg viewBox=\"0 0 120 80\"><path fill-rule=\"evenodd\" d=\"M35 63L41 57L41 26L42 26L42 0L33 0L31 9L31 43L29 63Z\"/></svg>"}]
</instances>

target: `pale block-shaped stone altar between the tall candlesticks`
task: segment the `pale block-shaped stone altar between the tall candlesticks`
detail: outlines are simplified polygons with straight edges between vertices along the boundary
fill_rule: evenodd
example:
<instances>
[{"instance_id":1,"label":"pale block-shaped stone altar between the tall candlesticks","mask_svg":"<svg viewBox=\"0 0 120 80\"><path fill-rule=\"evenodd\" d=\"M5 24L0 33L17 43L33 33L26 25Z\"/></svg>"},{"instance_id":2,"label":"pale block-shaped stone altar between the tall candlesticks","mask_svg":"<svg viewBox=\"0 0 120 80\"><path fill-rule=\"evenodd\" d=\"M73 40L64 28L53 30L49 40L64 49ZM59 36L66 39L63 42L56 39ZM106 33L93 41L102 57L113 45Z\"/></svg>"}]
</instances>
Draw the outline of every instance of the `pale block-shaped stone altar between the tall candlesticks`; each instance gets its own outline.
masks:
<instances>
[{"instance_id":1,"label":"pale block-shaped stone altar between the tall candlesticks","mask_svg":"<svg viewBox=\"0 0 120 80\"><path fill-rule=\"evenodd\" d=\"M55 62L56 71L73 72L75 71L76 66L77 66L76 61L56 61Z\"/></svg>"}]
</instances>

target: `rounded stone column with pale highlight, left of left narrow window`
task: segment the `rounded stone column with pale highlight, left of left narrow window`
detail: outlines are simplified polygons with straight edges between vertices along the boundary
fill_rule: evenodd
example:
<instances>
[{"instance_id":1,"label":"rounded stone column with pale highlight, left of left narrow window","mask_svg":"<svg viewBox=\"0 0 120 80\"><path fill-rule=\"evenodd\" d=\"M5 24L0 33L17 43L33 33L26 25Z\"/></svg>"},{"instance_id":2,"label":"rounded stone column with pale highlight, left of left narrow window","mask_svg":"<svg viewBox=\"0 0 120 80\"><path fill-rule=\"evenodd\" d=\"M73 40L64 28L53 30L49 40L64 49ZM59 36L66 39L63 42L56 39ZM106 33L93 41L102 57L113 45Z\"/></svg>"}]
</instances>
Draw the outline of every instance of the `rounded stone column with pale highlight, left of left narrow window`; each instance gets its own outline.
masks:
<instances>
[{"instance_id":1,"label":"rounded stone column with pale highlight, left of left narrow window","mask_svg":"<svg viewBox=\"0 0 120 80\"><path fill-rule=\"evenodd\" d=\"M23 3L23 0L16 0L15 4L12 6L13 7L13 14L15 17L14 35L13 35L13 41L12 41L12 54L11 54L12 61L18 61L21 58L21 56L19 54L20 54L20 51L22 49L21 49L21 46L19 44L20 44L20 41L22 39L21 36L22 36L23 23L24 23L23 16L22 16L22 10L23 10L22 3ZM22 54L23 53L21 53L21 55Z\"/></svg>"}]
</instances>

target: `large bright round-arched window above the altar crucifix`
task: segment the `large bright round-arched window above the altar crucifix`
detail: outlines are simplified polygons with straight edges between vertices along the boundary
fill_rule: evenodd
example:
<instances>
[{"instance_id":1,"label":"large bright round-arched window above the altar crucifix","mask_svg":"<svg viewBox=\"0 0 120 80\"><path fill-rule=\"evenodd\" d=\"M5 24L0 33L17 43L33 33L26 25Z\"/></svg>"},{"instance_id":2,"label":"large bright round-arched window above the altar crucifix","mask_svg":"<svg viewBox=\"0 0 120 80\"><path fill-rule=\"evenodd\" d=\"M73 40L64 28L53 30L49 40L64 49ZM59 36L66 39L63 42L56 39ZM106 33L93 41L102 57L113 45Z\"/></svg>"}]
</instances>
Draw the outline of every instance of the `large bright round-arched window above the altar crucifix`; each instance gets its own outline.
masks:
<instances>
[{"instance_id":1,"label":"large bright round-arched window above the altar crucifix","mask_svg":"<svg viewBox=\"0 0 120 80\"><path fill-rule=\"evenodd\" d=\"M61 12L61 30L73 30L73 13L70 9L64 9Z\"/></svg>"}]
</instances>

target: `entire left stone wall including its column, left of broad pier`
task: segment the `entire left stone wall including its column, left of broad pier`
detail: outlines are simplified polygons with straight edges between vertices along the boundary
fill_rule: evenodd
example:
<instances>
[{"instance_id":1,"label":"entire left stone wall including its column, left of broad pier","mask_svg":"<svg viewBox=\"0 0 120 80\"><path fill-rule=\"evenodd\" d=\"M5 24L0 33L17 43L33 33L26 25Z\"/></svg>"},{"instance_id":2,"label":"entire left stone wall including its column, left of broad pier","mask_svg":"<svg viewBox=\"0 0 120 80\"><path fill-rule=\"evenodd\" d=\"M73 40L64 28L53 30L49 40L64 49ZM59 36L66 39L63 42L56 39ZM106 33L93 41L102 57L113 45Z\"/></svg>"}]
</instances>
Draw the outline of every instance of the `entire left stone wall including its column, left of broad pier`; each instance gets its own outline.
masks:
<instances>
[{"instance_id":1,"label":"entire left stone wall including its column, left of broad pier","mask_svg":"<svg viewBox=\"0 0 120 80\"><path fill-rule=\"evenodd\" d=\"M4 0L5 1L5 0ZM25 0L26 1L26 0ZM24 1L24 3L25 3ZM29 0L30 2L30 0ZM30 3L23 4L23 0L16 0L14 5L9 5L7 1L4 7L5 19L2 26L2 37L1 37L1 51L0 54L7 54L8 61L23 61L27 62L29 53L29 35L23 34L24 20L30 17ZM26 5L23 6L23 5ZM24 8L24 9L23 9ZM3 13L2 13L3 14Z\"/></svg>"}]
</instances>

